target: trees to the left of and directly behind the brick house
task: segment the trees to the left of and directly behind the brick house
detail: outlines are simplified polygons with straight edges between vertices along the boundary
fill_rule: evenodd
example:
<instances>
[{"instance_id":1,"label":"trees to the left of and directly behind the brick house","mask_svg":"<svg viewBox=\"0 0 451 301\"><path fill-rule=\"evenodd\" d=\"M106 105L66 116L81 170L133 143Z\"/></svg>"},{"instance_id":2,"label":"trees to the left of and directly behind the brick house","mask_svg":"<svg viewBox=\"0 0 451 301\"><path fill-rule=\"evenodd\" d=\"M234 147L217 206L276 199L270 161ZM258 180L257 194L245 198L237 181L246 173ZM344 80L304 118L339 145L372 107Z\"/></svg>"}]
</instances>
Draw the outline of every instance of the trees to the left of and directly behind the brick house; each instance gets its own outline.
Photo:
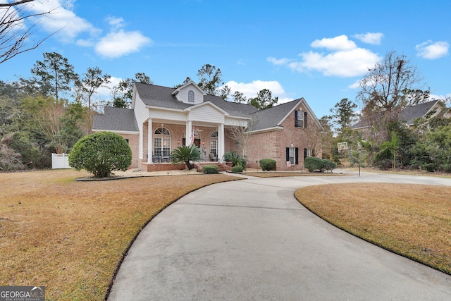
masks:
<instances>
[{"instance_id":1,"label":"trees to the left of and directly behind the brick house","mask_svg":"<svg viewBox=\"0 0 451 301\"><path fill-rule=\"evenodd\" d=\"M48 168L52 153L68 152L75 142L90 133L92 116L99 106L130 107L134 82L152 84L149 75L136 73L111 89L108 101L97 100L99 88L107 87L111 76L100 68L87 68L79 75L68 59L46 52L31 68L30 78L0 81L0 171ZM207 94L227 99L219 68L206 64L198 70L198 85ZM180 87L191 79L174 87ZM271 91L261 90L252 99L235 99L264 109L277 104Z\"/></svg>"}]
</instances>

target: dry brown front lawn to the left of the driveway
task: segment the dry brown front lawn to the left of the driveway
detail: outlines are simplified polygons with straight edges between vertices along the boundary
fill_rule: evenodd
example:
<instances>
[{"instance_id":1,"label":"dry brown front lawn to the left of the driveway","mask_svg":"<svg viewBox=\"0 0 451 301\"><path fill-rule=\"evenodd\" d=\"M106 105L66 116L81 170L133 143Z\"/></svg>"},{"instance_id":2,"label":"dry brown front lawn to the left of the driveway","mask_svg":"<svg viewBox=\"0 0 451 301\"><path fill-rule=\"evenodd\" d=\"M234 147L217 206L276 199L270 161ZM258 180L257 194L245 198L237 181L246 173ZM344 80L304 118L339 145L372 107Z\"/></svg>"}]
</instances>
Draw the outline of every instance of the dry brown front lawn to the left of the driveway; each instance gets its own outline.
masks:
<instances>
[{"instance_id":1,"label":"dry brown front lawn to the left of the driveway","mask_svg":"<svg viewBox=\"0 0 451 301\"><path fill-rule=\"evenodd\" d=\"M103 300L118 262L161 209L224 175L77 182L69 170L0 173L0 285L47 300Z\"/></svg>"}]
</instances>

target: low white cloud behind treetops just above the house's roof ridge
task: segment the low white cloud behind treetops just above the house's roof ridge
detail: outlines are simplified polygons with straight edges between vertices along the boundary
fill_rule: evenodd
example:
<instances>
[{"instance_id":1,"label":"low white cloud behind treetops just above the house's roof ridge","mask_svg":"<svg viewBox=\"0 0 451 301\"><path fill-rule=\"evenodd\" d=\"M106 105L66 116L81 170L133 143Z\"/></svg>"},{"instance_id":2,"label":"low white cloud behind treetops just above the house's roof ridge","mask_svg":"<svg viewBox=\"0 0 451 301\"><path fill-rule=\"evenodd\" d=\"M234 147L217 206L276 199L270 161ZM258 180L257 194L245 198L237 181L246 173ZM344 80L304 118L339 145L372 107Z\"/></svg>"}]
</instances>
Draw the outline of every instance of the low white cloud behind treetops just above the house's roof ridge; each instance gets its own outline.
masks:
<instances>
[{"instance_id":1,"label":"low white cloud behind treetops just above the house's roof ridge","mask_svg":"<svg viewBox=\"0 0 451 301\"><path fill-rule=\"evenodd\" d=\"M253 82L235 82L231 80L226 82L226 85L230 87L230 95L239 91L245 95L246 98L256 97L257 94L263 90L268 89L271 91L272 97L278 97L278 104L283 104L285 102L290 102L293 99L287 97L285 90L282 85L276 80L264 81L264 80L254 80Z\"/></svg>"}]
</instances>

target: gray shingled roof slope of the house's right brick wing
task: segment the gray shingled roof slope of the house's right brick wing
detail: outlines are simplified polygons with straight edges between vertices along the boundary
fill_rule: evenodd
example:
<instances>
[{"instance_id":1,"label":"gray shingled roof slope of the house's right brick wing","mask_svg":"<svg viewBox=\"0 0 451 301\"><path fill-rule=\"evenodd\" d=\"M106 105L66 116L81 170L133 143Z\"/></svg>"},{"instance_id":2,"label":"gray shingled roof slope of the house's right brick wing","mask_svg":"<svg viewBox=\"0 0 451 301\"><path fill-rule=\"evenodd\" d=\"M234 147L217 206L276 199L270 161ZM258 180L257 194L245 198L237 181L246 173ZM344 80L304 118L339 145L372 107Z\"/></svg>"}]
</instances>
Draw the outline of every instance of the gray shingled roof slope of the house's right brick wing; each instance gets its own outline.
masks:
<instances>
[{"instance_id":1,"label":"gray shingled roof slope of the house's right brick wing","mask_svg":"<svg viewBox=\"0 0 451 301\"><path fill-rule=\"evenodd\" d=\"M279 104L278 106L252 113L251 117L255 116L257 118L257 123L254 125L253 130L263 130L277 126L301 101L302 99L295 99L291 102L285 102L285 104Z\"/></svg>"}]
</instances>

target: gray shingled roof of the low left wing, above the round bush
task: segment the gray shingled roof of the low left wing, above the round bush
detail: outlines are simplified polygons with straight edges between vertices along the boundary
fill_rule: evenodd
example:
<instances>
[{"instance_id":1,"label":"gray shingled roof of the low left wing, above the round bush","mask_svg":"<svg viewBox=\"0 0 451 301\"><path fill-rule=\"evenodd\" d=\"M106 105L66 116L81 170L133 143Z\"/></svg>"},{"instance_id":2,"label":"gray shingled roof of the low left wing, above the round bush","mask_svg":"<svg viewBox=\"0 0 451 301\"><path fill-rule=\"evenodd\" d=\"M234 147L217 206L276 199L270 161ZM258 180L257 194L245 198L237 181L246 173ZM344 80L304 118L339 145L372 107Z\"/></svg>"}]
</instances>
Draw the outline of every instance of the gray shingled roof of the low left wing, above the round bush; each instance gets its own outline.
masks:
<instances>
[{"instance_id":1,"label":"gray shingled roof of the low left wing, above the round bush","mask_svg":"<svg viewBox=\"0 0 451 301\"><path fill-rule=\"evenodd\" d=\"M138 125L132 109L106 106L104 114L94 115L92 130L138 132Z\"/></svg>"}]
</instances>

